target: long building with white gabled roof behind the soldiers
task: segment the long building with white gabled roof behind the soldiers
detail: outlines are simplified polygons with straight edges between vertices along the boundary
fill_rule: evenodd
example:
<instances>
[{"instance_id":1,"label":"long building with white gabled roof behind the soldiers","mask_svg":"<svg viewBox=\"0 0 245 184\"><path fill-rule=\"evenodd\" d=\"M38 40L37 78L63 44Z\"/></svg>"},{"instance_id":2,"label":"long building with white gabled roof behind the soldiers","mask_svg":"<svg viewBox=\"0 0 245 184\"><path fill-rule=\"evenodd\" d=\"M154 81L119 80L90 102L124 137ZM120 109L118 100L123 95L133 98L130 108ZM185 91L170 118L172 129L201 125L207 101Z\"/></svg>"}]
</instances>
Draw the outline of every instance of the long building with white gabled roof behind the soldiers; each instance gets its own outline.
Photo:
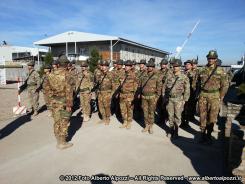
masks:
<instances>
[{"instance_id":1,"label":"long building with white gabled roof behind the soldiers","mask_svg":"<svg viewBox=\"0 0 245 184\"><path fill-rule=\"evenodd\" d=\"M79 58L88 58L92 48L96 48L102 59L110 60L149 60L155 58L156 62L167 55L169 52L153 48L144 44L130 41L116 36L107 36L100 34L84 33L77 31L68 31L55 36L51 36L34 42L35 45L47 46L54 57L61 53L68 58L77 56Z\"/></svg>"}]
</instances>

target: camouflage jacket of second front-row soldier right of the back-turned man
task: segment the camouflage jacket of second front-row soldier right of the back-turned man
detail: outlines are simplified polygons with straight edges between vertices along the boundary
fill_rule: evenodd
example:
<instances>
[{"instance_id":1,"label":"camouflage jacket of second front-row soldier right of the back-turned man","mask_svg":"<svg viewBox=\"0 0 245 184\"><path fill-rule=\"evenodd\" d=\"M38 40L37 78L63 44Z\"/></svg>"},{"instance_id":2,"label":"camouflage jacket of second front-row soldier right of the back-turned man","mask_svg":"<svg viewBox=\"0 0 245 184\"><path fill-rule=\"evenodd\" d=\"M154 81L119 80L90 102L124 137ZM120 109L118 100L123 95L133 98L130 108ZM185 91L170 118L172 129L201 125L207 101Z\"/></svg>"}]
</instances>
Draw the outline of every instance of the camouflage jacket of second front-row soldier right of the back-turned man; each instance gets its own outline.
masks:
<instances>
[{"instance_id":1,"label":"camouflage jacket of second front-row soldier right of the back-turned man","mask_svg":"<svg viewBox=\"0 0 245 184\"><path fill-rule=\"evenodd\" d=\"M114 91L115 86L113 84L113 75L111 72L107 71L106 73L101 73L100 77L98 78L99 91Z\"/></svg>"}]
</instances>

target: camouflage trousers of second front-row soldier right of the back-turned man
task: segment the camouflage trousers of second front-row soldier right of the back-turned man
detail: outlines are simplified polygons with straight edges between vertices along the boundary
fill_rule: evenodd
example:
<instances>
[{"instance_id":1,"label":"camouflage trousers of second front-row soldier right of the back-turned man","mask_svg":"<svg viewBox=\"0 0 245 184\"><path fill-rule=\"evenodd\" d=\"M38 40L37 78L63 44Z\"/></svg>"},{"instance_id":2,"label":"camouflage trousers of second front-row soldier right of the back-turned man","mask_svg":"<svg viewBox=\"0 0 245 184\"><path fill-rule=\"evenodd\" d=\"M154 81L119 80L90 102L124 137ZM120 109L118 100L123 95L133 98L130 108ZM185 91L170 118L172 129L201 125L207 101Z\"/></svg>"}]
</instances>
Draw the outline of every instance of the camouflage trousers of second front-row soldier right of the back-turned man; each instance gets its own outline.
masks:
<instances>
[{"instance_id":1,"label":"camouflage trousers of second front-row soldier right of the back-turned man","mask_svg":"<svg viewBox=\"0 0 245 184\"><path fill-rule=\"evenodd\" d=\"M111 92L98 93L99 110L102 119L110 119L111 116Z\"/></svg>"}]
</instances>

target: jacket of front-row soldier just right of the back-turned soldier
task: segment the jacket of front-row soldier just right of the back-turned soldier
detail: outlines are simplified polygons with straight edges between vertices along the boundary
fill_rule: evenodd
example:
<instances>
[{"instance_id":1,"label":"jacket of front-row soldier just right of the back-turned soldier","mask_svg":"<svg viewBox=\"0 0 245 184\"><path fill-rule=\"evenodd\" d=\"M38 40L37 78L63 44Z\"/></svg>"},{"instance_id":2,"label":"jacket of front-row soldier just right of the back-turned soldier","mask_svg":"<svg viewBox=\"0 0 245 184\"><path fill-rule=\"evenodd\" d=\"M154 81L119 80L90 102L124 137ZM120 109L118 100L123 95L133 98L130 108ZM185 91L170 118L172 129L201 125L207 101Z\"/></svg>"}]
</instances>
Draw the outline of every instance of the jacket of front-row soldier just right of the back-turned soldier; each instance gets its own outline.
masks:
<instances>
[{"instance_id":1,"label":"jacket of front-row soldier just right of the back-turned soldier","mask_svg":"<svg viewBox=\"0 0 245 184\"><path fill-rule=\"evenodd\" d=\"M81 85L79 86L80 83L81 83ZM94 76L93 76L92 72L90 72L88 70L81 71L78 74L78 80L77 80L76 86L80 87L81 93L90 92L94 86Z\"/></svg>"}]
</instances>

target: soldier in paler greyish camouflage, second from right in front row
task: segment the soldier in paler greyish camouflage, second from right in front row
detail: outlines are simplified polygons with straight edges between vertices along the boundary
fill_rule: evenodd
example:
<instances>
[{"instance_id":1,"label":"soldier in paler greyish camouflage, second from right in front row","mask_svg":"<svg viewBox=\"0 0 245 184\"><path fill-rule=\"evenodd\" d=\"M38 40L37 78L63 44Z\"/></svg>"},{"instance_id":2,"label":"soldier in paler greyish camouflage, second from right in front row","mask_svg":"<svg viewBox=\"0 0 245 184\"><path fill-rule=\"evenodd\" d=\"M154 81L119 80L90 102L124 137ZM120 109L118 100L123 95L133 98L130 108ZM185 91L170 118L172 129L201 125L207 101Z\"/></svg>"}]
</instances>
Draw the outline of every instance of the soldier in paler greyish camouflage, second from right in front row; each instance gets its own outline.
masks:
<instances>
[{"instance_id":1,"label":"soldier in paler greyish camouflage, second from right in front row","mask_svg":"<svg viewBox=\"0 0 245 184\"><path fill-rule=\"evenodd\" d=\"M190 97L190 83L188 77L181 73L182 62L175 59L173 63L173 74L166 81L165 94L169 97L167 111L169 116L169 126L171 138L178 138L178 127L181 123L181 113L184 103Z\"/></svg>"}]
</instances>

